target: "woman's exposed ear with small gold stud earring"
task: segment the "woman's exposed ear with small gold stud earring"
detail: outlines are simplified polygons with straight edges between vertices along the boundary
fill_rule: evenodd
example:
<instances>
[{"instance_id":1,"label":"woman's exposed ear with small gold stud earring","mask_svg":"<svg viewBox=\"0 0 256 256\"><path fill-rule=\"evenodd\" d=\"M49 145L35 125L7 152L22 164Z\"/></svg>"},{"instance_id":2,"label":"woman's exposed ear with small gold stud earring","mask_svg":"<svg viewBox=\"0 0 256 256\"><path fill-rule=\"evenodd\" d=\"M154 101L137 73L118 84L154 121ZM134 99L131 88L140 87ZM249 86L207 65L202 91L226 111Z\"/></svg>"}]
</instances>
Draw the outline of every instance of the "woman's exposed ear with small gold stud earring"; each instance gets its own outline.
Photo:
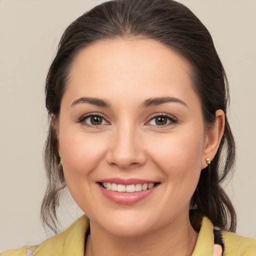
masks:
<instances>
[{"instance_id":1,"label":"woman's exposed ear with small gold stud earring","mask_svg":"<svg viewBox=\"0 0 256 256\"><path fill-rule=\"evenodd\" d=\"M225 114L221 109L215 112L215 123L205 134L204 149L201 160L201 169L207 166L205 158L212 160L218 150L225 126Z\"/></svg>"}]
</instances>

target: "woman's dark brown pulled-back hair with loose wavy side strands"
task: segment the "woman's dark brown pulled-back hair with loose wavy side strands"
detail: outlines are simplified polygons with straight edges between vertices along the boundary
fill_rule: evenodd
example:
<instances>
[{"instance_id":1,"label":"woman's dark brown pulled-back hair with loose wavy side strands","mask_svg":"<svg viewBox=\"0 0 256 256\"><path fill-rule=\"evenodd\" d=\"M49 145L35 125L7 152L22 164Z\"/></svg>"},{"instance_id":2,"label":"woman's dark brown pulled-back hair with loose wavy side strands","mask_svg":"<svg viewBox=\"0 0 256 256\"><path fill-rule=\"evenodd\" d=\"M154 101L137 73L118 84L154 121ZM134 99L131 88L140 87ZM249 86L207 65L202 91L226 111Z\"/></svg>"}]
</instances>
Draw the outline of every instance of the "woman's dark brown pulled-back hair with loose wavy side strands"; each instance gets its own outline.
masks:
<instances>
[{"instance_id":1,"label":"woman's dark brown pulled-back hair with loose wavy side strands","mask_svg":"<svg viewBox=\"0 0 256 256\"><path fill-rule=\"evenodd\" d=\"M193 67L194 89L199 95L204 123L215 121L215 111L226 114L229 91L224 68L212 38L201 21L184 5L173 0L112 0L95 6L74 20L64 31L46 84L46 108L59 115L68 72L81 49L107 38L154 39L185 57ZM56 231L56 207L66 186L59 164L56 133L49 126L44 148L47 189L41 205L44 226ZM209 166L201 171L190 207L207 216L221 230L235 231L236 215L220 183L232 173L235 143L225 117L224 134Z\"/></svg>"}]
</instances>

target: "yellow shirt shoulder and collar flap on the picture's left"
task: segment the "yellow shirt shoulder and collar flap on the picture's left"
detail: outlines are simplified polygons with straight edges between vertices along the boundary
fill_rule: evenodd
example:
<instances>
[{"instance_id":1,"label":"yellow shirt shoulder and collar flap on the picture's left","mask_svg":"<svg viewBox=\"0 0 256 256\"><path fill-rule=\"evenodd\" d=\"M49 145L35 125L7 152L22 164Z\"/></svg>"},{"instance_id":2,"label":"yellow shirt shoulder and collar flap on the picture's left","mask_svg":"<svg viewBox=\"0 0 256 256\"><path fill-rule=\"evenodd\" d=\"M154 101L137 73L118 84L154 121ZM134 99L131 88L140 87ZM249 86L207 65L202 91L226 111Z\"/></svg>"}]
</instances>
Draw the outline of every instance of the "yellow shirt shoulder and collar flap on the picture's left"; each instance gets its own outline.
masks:
<instances>
[{"instance_id":1,"label":"yellow shirt shoulder and collar flap on the picture's left","mask_svg":"<svg viewBox=\"0 0 256 256\"><path fill-rule=\"evenodd\" d=\"M63 232L56 234L35 246L7 250L0 256L82 256L85 235L89 230L88 218L83 215Z\"/></svg>"}]
</instances>

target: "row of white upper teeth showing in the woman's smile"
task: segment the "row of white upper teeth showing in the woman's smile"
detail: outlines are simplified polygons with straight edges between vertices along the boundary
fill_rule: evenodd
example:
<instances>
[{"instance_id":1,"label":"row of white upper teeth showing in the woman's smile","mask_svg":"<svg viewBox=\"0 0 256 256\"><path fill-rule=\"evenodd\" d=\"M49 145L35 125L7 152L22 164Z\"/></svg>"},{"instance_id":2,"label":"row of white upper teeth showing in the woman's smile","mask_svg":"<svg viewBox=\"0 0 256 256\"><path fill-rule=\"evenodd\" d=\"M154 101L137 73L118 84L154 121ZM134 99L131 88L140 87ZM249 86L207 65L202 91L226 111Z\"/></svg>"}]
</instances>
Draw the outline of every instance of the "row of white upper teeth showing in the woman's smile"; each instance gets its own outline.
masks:
<instances>
[{"instance_id":1,"label":"row of white upper teeth showing in the woman's smile","mask_svg":"<svg viewBox=\"0 0 256 256\"><path fill-rule=\"evenodd\" d=\"M108 182L99 182L100 185L111 191L117 191L117 192L139 192L142 190L148 190L156 186L158 183L144 183L144 184L130 184L130 185L124 185L124 184L116 184L116 183L108 183Z\"/></svg>"}]
</instances>

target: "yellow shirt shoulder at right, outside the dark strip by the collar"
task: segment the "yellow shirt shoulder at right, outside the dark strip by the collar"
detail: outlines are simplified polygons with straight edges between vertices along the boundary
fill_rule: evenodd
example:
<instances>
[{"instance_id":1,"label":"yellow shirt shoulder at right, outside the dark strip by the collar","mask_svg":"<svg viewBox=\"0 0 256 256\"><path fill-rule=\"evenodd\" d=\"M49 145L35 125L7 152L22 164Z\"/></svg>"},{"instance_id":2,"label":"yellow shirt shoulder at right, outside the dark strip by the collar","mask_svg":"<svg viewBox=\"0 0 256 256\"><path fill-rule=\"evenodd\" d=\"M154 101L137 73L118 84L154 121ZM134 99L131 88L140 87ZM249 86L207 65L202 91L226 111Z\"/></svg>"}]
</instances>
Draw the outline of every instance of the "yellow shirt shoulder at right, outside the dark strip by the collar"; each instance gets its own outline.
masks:
<instances>
[{"instance_id":1,"label":"yellow shirt shoulder at right, outside the dark strip by the collar","mask_svg":"<svg viewBox=\"0 0 256 256\"><path fill-rule=\"evenodd\" d=\"M223 256L256 256L256 238L225 231L222 236L225 246Z\"/></svg>"}]
</instances>

